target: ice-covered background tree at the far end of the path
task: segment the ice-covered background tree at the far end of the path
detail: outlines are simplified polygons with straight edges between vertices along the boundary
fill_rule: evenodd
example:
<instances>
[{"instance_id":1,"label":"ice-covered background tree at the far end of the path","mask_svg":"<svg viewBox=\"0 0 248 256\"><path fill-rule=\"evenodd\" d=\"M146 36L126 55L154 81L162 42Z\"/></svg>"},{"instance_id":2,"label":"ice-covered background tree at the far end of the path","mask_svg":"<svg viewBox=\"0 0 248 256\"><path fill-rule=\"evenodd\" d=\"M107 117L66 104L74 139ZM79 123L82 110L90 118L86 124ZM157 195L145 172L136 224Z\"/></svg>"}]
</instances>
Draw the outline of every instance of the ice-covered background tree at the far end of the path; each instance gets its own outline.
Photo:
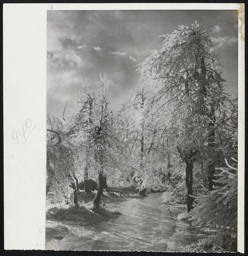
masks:
<instances>
[{"instance_id":1,"label":"ice-covered background tree at the far end of the path","mask_svg":"<svg viewBox=\"0 0 248 256\"><path fill-rule=\"evenodd\" d=\"M140 194L163 189L165 179L169 179L167 165L172 166L167 150L164 106L151 104L150 97L151 92L141 88L132 92L122 107L122 116L126 120L125 136L132 148L129 158L131 176Z\"/></svg>"}]
</instances>

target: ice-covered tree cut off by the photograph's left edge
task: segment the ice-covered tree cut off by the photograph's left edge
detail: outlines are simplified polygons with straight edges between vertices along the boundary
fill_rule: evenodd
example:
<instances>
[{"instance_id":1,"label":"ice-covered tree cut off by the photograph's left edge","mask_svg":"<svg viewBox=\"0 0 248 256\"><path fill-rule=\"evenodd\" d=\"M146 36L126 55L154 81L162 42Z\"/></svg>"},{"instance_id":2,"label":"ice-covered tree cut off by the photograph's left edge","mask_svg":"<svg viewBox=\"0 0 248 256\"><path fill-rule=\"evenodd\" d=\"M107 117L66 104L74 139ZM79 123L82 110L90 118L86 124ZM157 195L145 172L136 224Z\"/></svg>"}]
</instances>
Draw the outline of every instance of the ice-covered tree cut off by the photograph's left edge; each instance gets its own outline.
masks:
<instances>
[{"instance_id":1,"label":"ice-covered tree cut off by the photograph's left edge","mask_svg":"<svg viewBox=\"0 0 248 256\"><path fill-rule=\"evenodd\" d=\"M77 205L77 179L74 167L76 141L70 138L75 132L74 129L73 119L62 123L59 118L47 113L46 194L52 185L59 201L68 202L73 192L73 201Z\"/></svg>"}]
</instances>

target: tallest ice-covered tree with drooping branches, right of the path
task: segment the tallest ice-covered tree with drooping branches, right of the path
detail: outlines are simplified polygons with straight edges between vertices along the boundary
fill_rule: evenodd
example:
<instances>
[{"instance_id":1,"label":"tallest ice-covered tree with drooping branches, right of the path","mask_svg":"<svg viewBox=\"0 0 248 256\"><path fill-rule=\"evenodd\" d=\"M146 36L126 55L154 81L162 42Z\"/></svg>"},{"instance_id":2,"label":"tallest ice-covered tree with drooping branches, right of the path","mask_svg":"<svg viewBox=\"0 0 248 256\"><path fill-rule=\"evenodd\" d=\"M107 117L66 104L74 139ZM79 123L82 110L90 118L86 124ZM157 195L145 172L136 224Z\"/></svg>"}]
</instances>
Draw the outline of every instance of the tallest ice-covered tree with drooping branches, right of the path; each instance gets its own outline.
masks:
<instances>
[{"instance_id":1,"label":"tallest ice-covered tree with drooping branches, right of the path","mask_svg":"<svg viewBox=\"0 0 248 256\"><path fill-rule=\"evenodd\" d=\"M188 211L192 209L193 164L201 162L207 171L208 188L213 189L216 130L224 125L228 97L223 92L220 64L211 54L214 49L208 31L195 22L192 28L181 25L164 35L162 48L139 68L143 85L156 81L153 104L165 102L171 113L167 131L186 164ZM218 120L217 120L218 119Z\"/></svg>"}]
</instances>

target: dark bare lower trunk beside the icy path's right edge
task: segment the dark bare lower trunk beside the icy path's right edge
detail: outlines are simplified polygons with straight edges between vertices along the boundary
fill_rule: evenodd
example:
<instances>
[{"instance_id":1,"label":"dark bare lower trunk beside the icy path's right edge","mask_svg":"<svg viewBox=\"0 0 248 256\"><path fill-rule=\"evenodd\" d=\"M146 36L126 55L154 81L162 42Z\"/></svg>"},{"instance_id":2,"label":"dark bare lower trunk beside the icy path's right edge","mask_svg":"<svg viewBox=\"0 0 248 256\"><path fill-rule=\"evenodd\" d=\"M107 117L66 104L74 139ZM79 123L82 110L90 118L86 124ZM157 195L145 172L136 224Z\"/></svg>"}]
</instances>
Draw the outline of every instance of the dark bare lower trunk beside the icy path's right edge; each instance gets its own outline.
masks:
<instances>
[{"instance_id":1,"label":"dark bare lower trunk beside the icy path's right edge","mask_svg":"<svg viewBox=\"0 0 248 256\"><path fill-rule=\"evenodd\" d=\"M185 163L186 163L186 186L187 186L187 209L190 212L193 209L194 198L190 195L193 195L193 160L192 160L193 152L190 151L189 154L186 155Z\"/></svg>"}]
</instances>

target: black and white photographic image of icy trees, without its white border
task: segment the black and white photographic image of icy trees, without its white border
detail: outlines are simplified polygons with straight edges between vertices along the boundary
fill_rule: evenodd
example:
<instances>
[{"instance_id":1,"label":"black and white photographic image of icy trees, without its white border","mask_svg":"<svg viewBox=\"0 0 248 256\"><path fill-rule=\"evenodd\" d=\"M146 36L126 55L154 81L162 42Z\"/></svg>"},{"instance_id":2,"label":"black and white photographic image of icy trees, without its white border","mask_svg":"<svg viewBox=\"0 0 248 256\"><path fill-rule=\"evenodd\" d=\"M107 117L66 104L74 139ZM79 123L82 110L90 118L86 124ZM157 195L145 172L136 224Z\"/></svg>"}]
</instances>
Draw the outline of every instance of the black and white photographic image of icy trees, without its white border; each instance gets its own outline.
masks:
<instances>
[{"instance_id":1,"label":"black and white photographic image of icy trees, without its white border","mask_svg":"<svg viewBox=\"0 0 248 256\"><path fill-rule=\"evenodd\" d=\"M47 12L46 249L237 251L236 10Z\"/></svg>"}]
</instances>

